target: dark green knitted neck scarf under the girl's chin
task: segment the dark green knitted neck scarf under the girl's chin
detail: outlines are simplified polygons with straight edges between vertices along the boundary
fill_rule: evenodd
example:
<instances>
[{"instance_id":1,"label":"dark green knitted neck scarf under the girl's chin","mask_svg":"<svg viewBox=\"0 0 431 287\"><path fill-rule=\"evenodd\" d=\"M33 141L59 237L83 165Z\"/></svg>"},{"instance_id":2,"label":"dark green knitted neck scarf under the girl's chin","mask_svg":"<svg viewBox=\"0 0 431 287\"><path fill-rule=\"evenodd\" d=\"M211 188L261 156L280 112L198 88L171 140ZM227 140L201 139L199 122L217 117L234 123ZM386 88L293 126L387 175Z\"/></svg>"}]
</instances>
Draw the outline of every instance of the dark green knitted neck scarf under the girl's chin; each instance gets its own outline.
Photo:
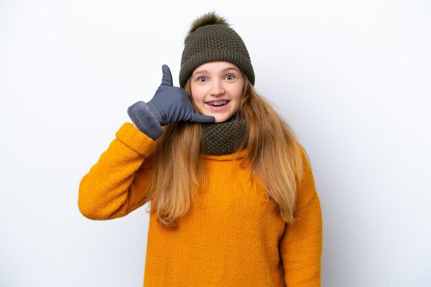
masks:
<instances>
[{"instance_id":1,"label":"dark green knitted neck scarf under the girl's chin","mask_svg":"<svg viewBox=\"0 0 431 287\"><path fill-rule=\"evenodd\" d=\"M234 115L227 122L204 124L205 154L231 154L246 136L244 117Z\"/></svg>"}]
</instances>

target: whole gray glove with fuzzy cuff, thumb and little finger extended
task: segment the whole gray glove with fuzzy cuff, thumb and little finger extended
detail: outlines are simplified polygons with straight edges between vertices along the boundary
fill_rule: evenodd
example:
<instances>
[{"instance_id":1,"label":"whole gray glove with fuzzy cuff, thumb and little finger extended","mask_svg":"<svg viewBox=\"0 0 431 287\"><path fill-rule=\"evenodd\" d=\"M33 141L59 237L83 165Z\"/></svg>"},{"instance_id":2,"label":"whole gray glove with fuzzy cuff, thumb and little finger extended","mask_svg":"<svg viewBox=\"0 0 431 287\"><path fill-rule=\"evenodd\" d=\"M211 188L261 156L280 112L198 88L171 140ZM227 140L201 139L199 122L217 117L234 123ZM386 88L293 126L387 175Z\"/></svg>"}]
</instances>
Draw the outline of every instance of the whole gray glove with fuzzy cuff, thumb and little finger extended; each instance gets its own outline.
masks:
<instances>
[{"instance_id":1,"label":"whole gray glove with fuzzy cuff, thumb and little finger extended","mask_svg":"<svg viewBox=\"0 0 431 287\"><path fill-rule=\"evenodd\" d=\"M161 126L172 122L215 121L212 116L195 113L189 94L180 87L173 86L171 70L167 65L162 66L162 72L162 84L154 97L147 104L136 102L127 109L129 117L140 131L155 140L162 135Z\"/></svg>"}]
</instances>

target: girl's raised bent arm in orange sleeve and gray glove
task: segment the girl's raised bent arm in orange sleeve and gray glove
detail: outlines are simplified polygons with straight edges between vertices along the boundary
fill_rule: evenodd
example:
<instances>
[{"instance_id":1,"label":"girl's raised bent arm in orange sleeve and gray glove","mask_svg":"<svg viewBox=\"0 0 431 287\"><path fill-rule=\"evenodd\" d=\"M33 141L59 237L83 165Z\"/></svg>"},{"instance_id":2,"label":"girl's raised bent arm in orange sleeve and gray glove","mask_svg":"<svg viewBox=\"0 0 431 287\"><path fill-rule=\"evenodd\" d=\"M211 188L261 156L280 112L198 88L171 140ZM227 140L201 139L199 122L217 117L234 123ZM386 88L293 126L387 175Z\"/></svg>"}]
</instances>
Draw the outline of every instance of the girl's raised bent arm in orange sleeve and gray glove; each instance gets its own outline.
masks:
<instances>
[{"instance_id":1,"label":"girl's raised bent arm in orange sleeve and gray glove","mask_svg":"<svg viewBox=\"0 0 431 287\"><path fill-rule=\"evenodd\" d=\"M123 125L116 139L79 187L78 206L91 219L111 219L129 214L147 202L151 155L162 126L171 122L214 122L214 117L195 113L189 94L172 84L167 65L162 84L146 104L136 102L127 113L134 122ZM136 128L137 127L137 128Z\"/></svg>"}]
</instances>

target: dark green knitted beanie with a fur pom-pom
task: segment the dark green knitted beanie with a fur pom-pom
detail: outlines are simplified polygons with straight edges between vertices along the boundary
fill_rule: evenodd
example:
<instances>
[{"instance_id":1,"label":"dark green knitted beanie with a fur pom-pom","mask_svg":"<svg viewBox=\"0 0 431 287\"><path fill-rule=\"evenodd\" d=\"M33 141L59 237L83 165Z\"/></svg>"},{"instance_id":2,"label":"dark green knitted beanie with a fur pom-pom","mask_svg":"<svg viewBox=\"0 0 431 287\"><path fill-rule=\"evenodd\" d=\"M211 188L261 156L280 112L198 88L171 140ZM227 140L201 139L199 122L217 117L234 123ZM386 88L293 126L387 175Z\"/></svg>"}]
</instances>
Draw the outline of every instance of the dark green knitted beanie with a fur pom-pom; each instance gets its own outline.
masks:
<instances>
[{"instance_id":1,"label":"dark green knitted beanie with a fur pom-pom","mask_svg":"<svg viewBox=\"0 0 431 287\"><path fill-rule=\"evenodd\" d=\"M255 74L249 51L227 21L209 12L200 16L192 24L182 51L180 87L184 88L194 69L206 62L231 62L240 68L255 83Z\"/></svg>"}]
</instances>

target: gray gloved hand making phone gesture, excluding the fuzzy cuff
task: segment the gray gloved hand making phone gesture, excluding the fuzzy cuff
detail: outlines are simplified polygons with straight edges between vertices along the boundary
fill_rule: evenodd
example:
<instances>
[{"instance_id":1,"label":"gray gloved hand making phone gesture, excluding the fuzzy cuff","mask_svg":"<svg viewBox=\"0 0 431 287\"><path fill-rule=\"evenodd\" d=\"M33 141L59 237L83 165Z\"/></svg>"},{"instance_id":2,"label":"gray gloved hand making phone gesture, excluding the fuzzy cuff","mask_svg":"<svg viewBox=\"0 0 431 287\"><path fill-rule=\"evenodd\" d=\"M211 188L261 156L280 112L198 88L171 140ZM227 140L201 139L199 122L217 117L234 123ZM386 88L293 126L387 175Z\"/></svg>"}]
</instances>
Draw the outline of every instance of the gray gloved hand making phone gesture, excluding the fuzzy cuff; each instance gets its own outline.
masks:
<instances>
[{"instance_id":1,"label":"gray gloved hand making phone gesture, excluding the fuzzy cuff","mask_svg":"<svg viewBox=\"0 0 431 287\"><path fill-rule=\"evenodd\" d=\"M151 113L156 116L162 126L180 121L200 123L215 121L214 117L195 113L189 94L180 87L173 86L171 70L167 65L162 66L162 72L162 84L158 87L154 97L147 102Z\"/></svg>"}]
</instances>

